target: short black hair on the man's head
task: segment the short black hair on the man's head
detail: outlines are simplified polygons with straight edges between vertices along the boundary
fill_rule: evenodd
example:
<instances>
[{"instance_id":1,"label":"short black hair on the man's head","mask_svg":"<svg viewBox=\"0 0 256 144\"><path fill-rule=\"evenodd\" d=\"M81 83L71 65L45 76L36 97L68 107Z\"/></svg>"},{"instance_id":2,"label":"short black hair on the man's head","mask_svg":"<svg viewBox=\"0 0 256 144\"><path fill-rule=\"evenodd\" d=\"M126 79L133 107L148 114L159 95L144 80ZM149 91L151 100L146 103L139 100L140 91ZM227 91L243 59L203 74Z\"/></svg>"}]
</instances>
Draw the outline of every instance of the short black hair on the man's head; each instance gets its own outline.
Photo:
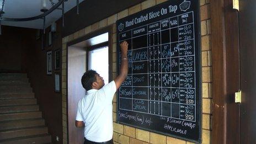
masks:
<instances>
[{"instance_id":1,"label":"short black hair on the man's head","mask_svg":"<svg viewBox=\"0 0 256 144\"><path fill-rule=\"evenodd\" d=\"M89 70L83 74L81 78L81 82L84 89L86 90L92 89L93 82L96 82L96 74L98 73L94 70Z\"/></svg>"}]
</instances>

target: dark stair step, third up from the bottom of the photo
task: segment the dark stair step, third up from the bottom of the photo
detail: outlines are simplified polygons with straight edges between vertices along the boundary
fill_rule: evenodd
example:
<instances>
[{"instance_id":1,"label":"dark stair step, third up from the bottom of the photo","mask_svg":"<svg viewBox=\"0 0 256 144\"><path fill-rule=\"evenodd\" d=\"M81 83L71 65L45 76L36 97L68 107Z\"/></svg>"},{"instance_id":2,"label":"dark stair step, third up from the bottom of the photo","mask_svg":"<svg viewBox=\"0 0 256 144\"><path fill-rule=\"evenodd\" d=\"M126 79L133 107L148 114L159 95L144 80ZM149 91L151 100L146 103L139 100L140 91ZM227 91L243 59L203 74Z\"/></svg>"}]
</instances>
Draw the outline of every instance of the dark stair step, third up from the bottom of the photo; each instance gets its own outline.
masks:
<instances>
[{"instance_id":1,"label":"dark stair step, third up from the bottom of the photo","mask_svg":"<svg viewBox=\"0 0 256 144\"><path fill-rule=\"evenodd\" d=\"M24 127L44 126L44 119L25 119L0 122L0 131L9 129L19 129Z\"/></svg>"}]
</instances>

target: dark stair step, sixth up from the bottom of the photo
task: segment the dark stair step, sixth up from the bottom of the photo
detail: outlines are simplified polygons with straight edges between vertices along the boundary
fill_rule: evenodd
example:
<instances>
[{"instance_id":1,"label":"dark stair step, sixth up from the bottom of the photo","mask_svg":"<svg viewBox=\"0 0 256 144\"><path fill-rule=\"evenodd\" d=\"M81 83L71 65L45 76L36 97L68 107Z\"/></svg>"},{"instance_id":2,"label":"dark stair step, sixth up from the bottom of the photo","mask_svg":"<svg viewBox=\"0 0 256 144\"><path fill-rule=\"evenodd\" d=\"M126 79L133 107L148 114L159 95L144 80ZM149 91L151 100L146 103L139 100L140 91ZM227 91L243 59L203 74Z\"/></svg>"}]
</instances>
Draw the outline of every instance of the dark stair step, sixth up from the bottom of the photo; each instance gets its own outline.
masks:
<instances>
[{"instance_id":1,"label":"dark stair step, sixth up from the bottom of the photo","mask_svg":"<svg viewBox=\"0 0 256 144\"><path fill-rule=\"evenodd\" d=\"M31 99L0 99L0 106L13 106L13 105L35 105L36 98Z\"/></svg>"}]
</instances>

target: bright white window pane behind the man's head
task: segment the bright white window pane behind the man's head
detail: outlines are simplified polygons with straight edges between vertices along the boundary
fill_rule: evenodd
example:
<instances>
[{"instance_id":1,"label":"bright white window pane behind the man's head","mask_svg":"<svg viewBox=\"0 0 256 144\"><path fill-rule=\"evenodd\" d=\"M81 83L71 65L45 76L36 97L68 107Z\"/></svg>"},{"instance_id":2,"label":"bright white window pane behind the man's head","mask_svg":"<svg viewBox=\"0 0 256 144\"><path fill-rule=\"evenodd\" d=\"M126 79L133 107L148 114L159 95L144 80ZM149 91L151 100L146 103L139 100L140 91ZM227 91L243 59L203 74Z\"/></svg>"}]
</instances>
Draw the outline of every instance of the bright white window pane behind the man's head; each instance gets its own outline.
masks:
<instances>
[{"instance_id":1,"label":"bright white window pane behind the man's head","mask_svg":"<svg viewBox=\"0 0 256 144\"><path fill-rule=\"evenodd\" d=\"M89 70L94 70L109 83L109 47L89 51Z\"/></svg>"}]
</instances>

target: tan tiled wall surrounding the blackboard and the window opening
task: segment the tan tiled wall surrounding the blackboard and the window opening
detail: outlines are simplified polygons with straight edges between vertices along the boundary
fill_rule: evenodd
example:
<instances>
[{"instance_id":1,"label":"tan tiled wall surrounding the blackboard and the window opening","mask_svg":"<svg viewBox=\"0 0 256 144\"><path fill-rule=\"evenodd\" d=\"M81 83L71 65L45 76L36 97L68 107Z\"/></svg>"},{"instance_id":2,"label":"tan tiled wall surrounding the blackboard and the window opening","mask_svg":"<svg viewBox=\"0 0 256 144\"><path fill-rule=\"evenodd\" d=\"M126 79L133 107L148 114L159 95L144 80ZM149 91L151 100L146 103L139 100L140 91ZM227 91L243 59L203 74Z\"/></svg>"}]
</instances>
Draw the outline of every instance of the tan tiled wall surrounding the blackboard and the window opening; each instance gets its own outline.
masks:
<instances>
[{"instance_id":1,"label":"tan tiled wall surrounding the blackboard and the window opening","mask_svg":"<svg viewBox=\"0 0 256 144\"><path fill-rule=\"evenodd\" d=\"M104 28L105 26L113 26L113 78L116 77L116 20L124 18L128 15L140 12L143 9L150 8L156 4L165 2L166 0L148 0L137 4L134 7L122 10L106 19L100 20L93 25L68 35L62 39L62 123L63 123L63 143L67 143L67 111L66 111L66 44L69 41L80 38L95 30ZM200 17L201 17L201 66L202 66L202 143L210 143L211 141L211 86L212 86L212 64L211 64L211 29L210 29L210 2L209 0L200 0ZM134 127L121 125L116 123L116 95L113 99L113 122L114 122L114 143L193 143L189 141L179 140L169 136L159 135L154 132L136 129Z\"/></svg>"}]
</instances>

